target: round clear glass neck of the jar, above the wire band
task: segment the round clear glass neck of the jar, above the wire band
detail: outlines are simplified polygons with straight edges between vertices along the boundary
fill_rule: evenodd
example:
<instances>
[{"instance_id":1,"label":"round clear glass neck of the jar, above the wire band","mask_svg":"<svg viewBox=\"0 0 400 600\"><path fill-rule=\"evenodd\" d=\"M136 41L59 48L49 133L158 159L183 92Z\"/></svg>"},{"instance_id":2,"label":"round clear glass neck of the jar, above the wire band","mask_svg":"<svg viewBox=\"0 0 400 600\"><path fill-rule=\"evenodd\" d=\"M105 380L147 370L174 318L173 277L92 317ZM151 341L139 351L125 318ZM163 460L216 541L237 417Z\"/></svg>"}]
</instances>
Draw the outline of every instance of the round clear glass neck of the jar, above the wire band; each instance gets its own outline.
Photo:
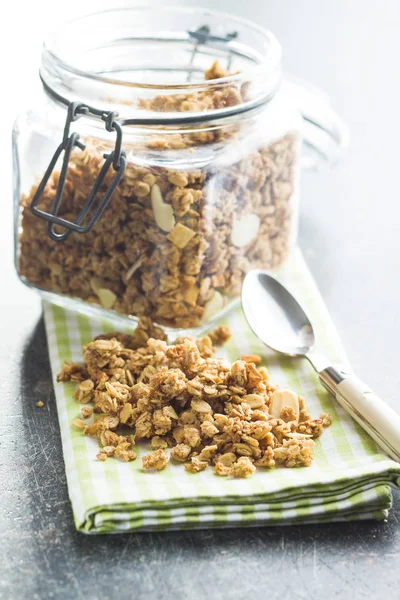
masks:
<instances>
[{"instance_id":1,"label":"round clear glass neck of the jar, above the wire band","mask_svg":"<svg viewBox=\"0 0 400 600\"><path fill-rule=\"evenodd\" d=\"M133 121L194 123L267 102L280 83L281 49L267 30L222 13L117 9L53 32L40 75L66 104L80 101Z\"/></svg>"}]
</instances>

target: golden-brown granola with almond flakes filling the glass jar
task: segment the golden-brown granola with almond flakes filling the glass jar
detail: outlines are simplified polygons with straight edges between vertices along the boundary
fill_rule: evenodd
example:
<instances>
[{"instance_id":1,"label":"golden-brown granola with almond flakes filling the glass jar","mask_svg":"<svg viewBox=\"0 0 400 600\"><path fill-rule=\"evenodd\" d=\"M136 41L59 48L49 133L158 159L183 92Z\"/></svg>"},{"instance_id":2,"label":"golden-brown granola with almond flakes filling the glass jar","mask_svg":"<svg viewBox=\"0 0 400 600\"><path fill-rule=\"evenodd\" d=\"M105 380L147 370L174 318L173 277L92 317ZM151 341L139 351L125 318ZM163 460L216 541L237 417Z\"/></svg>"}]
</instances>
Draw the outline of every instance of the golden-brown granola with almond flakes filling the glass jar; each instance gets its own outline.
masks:
<instances>
[{"instance_id":1,"label":"golden-brown granola with almond flakes filling the glass jar","mask_svg":"<svg viewBox=\"0 0 400 600\"><path fill-rule=\"evenodd\" d=\"M214 64L206 77L225 74ZM243 90L221 86L190 97L143 100L143 108L209 110L243 97ZM132 147L130 153L127 147L125 175L94 229L61 243L50 239L47 223L29 209L34 186L21 199L20 274L40 289L172 328L207 323L239 295L250 268L274 269L288 255L297 142L290 132L243 153L240 149L252 148L248 129L236 125L149 134L151 164L135 164L141 151ZM69 220L75 220L104 162L104 145L85 143L84 151L72 154L59 211ZM233 157L231 164L210 160L195 170L161 166L168 152L190 164L193 152L218 144L219 155ZM51 209L58 180L59 173L49 179L41 209Z\"/></svg>"}]
</instances>

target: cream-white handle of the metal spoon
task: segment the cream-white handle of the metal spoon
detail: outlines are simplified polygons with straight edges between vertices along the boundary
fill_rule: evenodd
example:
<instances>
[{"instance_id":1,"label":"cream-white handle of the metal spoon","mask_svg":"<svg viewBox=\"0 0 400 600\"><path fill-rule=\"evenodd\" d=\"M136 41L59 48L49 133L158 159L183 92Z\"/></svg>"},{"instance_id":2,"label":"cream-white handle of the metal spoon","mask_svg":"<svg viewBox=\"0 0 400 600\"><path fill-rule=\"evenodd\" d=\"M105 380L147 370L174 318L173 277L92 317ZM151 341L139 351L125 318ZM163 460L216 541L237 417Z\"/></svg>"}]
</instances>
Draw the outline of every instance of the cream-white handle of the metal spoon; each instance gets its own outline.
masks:
<instances>
[{"instance_id":1,"label":"cream-white handle of the metal spoon","mask_svg":"<svg viewBox=\"0 0 400 600\"><path fill-rule=\"evenodd\" d=\"M400 415L355 375L329 367L319 376L353 419L391 458L400 462Z\"/></svg>"}]
</instances>

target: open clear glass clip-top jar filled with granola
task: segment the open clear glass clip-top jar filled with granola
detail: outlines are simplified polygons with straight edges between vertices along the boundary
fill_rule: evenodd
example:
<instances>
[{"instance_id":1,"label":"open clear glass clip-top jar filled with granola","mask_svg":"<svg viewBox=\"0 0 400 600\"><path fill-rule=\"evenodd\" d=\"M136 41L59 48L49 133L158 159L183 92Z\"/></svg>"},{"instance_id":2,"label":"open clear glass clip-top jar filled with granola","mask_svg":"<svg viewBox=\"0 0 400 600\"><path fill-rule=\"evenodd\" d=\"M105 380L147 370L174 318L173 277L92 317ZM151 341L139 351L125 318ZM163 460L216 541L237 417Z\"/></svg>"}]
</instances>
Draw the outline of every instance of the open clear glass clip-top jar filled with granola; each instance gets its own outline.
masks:
<instances>
[{"instance_id":1,"label":"open clear glass clip-top jar filled with granola","mask_svg":"<svg viewBox=\"0 0 400 600\"><path fill-rule=\"evenodd\" d=\"M13 132L16 268L89 313L208 326L295 244L302 133L308 163L345 143L326 99L281 85L270 32L208 10L71 21L40 77Z\"/></svg>"}]
</instances>

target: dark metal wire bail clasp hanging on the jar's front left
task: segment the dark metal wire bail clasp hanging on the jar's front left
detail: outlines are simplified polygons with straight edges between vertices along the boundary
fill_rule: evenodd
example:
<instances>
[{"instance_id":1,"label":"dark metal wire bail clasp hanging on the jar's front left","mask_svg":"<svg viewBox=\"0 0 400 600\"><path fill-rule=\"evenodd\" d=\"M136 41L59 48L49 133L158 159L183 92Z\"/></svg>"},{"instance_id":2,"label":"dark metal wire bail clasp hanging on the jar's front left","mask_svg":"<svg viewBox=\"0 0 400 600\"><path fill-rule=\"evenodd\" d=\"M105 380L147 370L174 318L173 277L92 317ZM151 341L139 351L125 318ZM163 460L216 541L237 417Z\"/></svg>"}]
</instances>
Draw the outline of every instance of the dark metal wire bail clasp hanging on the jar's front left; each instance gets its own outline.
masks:
<instances>
[{"instance_id":1,"label":"dark metal wire bail clasp hanging on the jar's front left","mask_svg":"<svg viewBox=\"0 0 400 600\"><path fill-rule=\"evenodd\" d=\"M83 115L89 115L90 113L91 109L88 106L85 106L84 104L81 104L79 102L71 102L68 105L68 115L65 122L63 140L58 146L57 150L55 151L54 156L51 159L50 164L31 202L32 213L35 216L40 217L41 219L44 219L48 222L48 234L52 240L57 242L67 239L74 231L77 233L87 233L94 227L94 225L97 223L102 213L104 212L111 196L115 191L115 188L117 187L125 173L126 155L125 152L122 150L122 127L120 123L116 121L118 113L104 113L103 115L101 115L101 118L103 119L103 121L105 121L107 131L115 131L116 133L115 148L110 154L104 154L104 158L106 160L100 170L100 173L97 175L96 180L93 184L92 191L90 192L86 202L83 204L78 216L76 217L76 220L74 222L68 221L67 219L58 216L60 206L62 204L71 152L75 147L78 147L81 150L85 149L85 145L79 141L79 134L70 134L70 126L71 123L79 119L79 117ZM40 202L40 199L43 196L45 187L54 171L54 168L62 152L64 152L64 158L61 166L56 194L52 202L50 212L46 212L38 208L38 203ZM104 183L104 179L111 165L115 171L115 175L111 183L107 187L106 191L104 192L103 196L97 202L93 214L90 216L88 222L85 225L82 225L84 219L87 217L91 208L96 203L98 192ZM64 227L66 231L62 233L57 233L57 231L55 231L56 225Z\"/></svg>"}]
</instances>

